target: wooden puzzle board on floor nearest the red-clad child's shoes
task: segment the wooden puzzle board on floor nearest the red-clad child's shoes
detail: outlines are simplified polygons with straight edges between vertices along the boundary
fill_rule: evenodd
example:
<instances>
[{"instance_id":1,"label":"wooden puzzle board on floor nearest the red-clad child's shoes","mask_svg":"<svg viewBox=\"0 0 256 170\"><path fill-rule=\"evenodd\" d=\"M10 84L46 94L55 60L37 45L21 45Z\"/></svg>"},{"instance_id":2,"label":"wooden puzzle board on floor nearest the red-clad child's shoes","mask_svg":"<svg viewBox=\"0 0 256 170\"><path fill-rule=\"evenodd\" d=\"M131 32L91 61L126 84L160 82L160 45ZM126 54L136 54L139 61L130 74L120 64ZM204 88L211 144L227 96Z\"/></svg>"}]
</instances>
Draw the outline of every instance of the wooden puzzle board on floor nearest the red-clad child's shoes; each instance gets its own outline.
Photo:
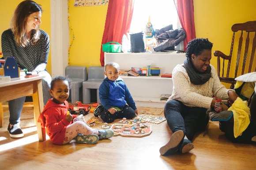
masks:
<instances>
[{"instance_id":1,"label":"wooden puzzle board on floor nearest the red-clad child's shoes","mask_svg":"<svg viewBox=\"0 0 256 170\"><path fill-rule=\"evenodd\" d=\"M135 128L132 124L116 124L114 123L110 129L114 130L114 136L121 135L127 137L144 137L152 133L151 126L141 128L142 131L139 133L139 129Z\"/></svg>"}]
</instances>

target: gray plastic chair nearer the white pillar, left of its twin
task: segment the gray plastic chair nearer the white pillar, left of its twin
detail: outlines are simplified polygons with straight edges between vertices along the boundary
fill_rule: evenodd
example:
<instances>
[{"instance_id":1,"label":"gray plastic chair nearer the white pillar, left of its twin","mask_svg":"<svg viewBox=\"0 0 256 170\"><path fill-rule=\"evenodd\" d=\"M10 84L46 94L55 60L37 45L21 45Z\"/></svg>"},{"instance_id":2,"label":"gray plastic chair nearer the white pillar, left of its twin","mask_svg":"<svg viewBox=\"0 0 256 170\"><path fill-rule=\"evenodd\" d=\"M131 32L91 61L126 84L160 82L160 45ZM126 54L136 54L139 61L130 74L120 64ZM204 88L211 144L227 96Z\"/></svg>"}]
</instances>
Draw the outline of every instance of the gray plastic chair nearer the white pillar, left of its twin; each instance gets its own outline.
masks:
<instances>
[{"instance_id":1,"label":"gray plastic chair nearer the white pillar, left of its twin","mask_svg":"<svg viewBox=\"0 0 256 170\"><path fill-rule=\"evenodd\" d=\"M83 95L83 81L87 80L87 67L85 66L67 66L66 76L71 79L71 92L68 100L71 99L72 104L81 101Z\"/></svg>"}]
</instances>

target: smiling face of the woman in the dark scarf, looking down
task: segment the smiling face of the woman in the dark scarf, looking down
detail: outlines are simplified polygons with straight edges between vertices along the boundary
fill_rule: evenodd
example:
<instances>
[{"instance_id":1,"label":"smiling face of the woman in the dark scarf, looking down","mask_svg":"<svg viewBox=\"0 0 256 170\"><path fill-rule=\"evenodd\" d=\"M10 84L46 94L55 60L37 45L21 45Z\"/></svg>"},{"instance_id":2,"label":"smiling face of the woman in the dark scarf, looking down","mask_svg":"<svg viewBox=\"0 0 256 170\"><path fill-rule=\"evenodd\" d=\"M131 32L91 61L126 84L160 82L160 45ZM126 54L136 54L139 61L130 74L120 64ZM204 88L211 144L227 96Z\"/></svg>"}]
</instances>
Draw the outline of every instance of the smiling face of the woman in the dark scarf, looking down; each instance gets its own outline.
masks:
<instances>
[{"instance_id":1,"label":"smiling face of the woman in the dark scarf, looking down","mask_svg":"<svg viewBox=\"0 0 256 170\"><path fill-rule=\"evenodd\" d=\"M199 72L205 72L207 67L210 66L211 50L203 50L200 55L191 55L192 63L196 70Z\"/></svg>"}]
</instances>

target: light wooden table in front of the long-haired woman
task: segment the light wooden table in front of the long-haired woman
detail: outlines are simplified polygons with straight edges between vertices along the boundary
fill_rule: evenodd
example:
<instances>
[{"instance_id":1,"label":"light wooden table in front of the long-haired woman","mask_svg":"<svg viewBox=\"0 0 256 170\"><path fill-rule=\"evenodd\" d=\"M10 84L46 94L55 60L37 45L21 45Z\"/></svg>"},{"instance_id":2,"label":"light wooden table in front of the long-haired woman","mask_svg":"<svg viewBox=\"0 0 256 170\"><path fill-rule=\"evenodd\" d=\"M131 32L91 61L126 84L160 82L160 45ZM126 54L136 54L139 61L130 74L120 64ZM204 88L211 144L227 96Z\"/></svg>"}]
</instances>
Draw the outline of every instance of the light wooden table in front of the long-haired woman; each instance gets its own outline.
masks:
<instances>
[{"instance_id":1,"label":"light wooden table in front of the long-haired woman","mask_svg":"<svg viewBox=\"0 0 256 170\"><path fill-rule=\"evenodd\" d=\"M30 78L13 78L10 82L0 82L0 127L3 126L2 102L15 98L32 95L34 104L34 121L38 130L39 141L45 141L45 128L41 128L38 117L43 111L43 91L41 79L45 76L35 76Z\"/></svg>"}]
</instances>

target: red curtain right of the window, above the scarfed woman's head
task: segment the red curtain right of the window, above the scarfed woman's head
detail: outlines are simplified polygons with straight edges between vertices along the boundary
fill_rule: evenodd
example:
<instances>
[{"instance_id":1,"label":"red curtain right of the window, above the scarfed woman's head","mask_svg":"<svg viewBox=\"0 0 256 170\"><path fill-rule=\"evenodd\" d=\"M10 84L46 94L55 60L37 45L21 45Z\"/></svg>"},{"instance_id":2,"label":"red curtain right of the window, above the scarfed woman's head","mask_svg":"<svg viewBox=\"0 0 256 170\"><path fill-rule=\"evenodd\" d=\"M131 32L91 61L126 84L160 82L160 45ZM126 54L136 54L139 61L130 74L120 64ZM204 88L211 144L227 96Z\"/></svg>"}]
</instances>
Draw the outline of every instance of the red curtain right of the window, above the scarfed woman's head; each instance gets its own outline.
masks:
<instances>
[{"instance_id":1,"label":"red curtain right of the window, above the scarfed woman's head","mask_svg":"<svg viewBox=\"0 0 256 170\"><path fill-rule=\"evenodd\" d=\"M196 38L193 0L174 0L174 4L181 22L181 27L187 34L184 40L184 51L186 51L188 42Z\"/></svg>"}]
</instances>

